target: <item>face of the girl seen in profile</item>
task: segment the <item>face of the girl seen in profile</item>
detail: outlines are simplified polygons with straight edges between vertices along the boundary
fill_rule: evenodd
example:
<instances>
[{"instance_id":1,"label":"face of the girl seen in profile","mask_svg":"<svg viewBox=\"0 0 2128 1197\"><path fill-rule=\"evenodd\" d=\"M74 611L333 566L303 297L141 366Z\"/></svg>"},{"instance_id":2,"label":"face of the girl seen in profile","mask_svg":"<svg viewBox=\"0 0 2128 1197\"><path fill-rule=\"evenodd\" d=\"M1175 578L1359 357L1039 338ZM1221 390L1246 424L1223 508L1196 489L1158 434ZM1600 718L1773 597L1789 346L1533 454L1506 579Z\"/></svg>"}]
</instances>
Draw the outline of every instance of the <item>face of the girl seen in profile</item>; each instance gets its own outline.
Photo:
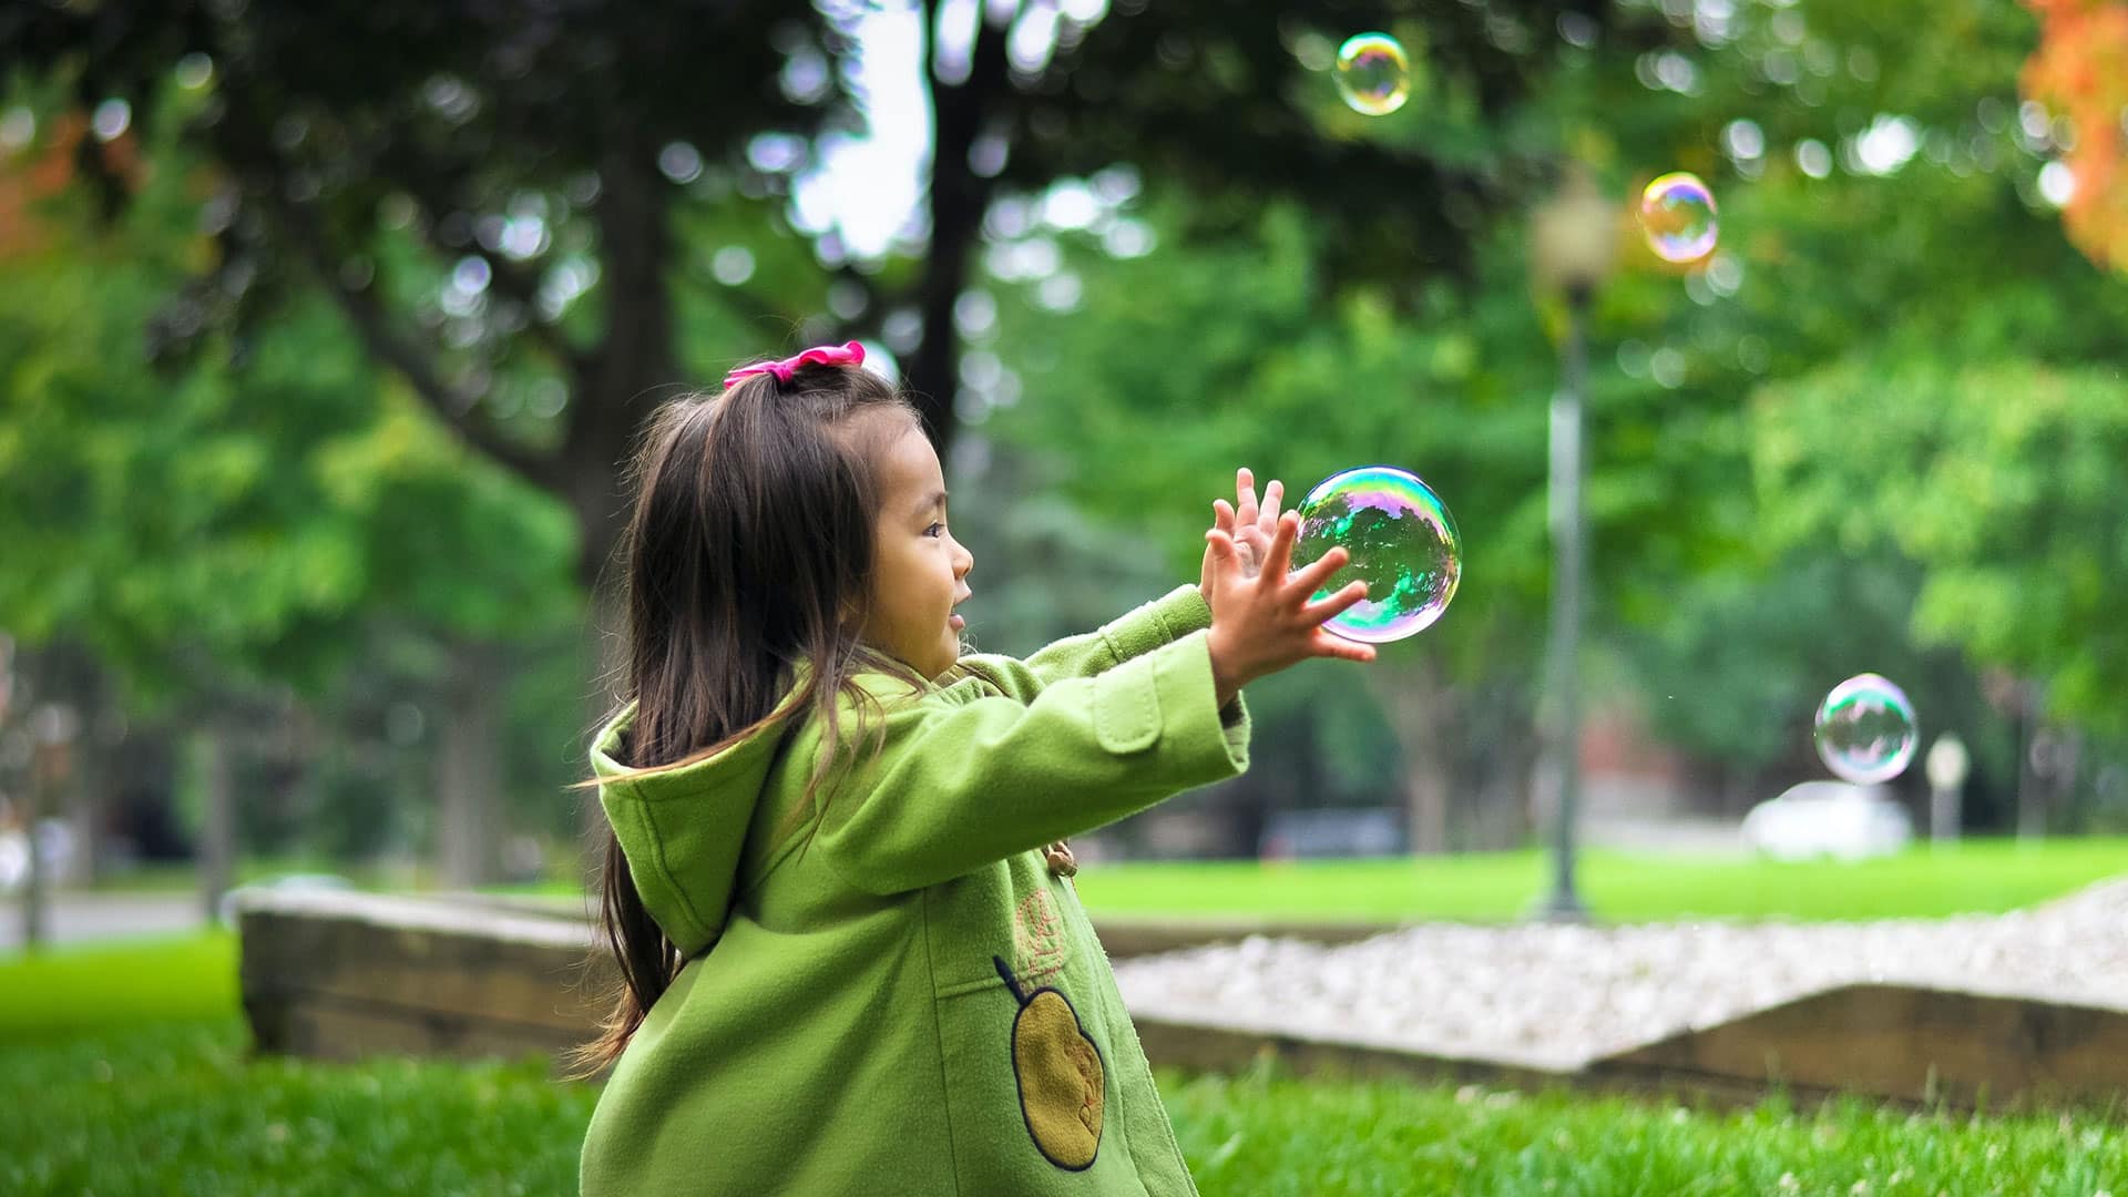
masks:
<instances>
[{"instance_id":1,"label":"face of the girl seen in profile","mask_svg":"<svg viewBox=\"0 0 2128 1197\"><path fill-rule=\"evenodd\" d=\"M872 526L872 592L864 641L938 677L960 660L962 618L975 558L945 530L945 471L921 428L896 434L879 473Z\"/></svg>"}]
</instances>

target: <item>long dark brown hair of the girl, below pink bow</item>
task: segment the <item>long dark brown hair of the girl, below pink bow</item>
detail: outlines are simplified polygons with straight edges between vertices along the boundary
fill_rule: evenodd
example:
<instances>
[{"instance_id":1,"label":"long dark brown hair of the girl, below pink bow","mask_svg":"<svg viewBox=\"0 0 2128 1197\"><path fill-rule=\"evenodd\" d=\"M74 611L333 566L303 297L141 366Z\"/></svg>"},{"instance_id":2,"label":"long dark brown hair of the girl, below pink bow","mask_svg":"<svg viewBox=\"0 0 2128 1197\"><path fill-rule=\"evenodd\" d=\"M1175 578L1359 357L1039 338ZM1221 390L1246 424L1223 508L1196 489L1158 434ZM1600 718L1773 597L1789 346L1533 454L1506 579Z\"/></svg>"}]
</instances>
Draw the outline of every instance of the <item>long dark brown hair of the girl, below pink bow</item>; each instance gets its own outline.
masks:
<instances>
[{"instance_id":1,"label":"long dark brown hair of the girl, below pink bow","mask_svg":"<svg viewBox=\"0 0 2128 1197\"><path fill-rule=\"evenodd\" d=\"M853 671L894 667L860 645L858 628L879 511L875 462L913 426L915 409L885 379L819 364L789 381L764 373L717 396L679 398L649 420L619 547L621 694L636 703L621 765L685 767L811 711L826 720L828 752L809 794L838 767L838 696L862 711ZM611 829L600 888L621 984L600 1037L575 1052L581 1073L621 1054L683 965Z\"/></svg>"}]
</instances>

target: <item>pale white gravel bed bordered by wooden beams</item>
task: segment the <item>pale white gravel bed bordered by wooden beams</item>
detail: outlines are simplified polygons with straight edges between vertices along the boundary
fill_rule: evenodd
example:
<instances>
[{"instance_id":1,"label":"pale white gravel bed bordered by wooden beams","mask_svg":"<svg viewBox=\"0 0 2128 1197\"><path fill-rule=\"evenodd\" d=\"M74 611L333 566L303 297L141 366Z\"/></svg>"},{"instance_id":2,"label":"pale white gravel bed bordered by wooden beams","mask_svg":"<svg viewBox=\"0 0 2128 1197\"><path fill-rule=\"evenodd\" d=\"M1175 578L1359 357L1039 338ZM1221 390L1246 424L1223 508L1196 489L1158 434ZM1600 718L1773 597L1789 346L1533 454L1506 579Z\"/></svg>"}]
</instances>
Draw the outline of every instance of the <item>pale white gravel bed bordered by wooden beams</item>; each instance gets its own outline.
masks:
<instances>
[{"instance_id":1,"label":"pale white gravel bed bordered by wooden beams","mask_svg":"<svg viewBox=\"0 0 2128 1197\"><path fill-rule=\"evenodd\" d=\"M2128 880L2000 916L1249 937L1115 963L1132 1014L1577 1069L1851 982L2128 1010Z\"/></svg>"}]
</instances>

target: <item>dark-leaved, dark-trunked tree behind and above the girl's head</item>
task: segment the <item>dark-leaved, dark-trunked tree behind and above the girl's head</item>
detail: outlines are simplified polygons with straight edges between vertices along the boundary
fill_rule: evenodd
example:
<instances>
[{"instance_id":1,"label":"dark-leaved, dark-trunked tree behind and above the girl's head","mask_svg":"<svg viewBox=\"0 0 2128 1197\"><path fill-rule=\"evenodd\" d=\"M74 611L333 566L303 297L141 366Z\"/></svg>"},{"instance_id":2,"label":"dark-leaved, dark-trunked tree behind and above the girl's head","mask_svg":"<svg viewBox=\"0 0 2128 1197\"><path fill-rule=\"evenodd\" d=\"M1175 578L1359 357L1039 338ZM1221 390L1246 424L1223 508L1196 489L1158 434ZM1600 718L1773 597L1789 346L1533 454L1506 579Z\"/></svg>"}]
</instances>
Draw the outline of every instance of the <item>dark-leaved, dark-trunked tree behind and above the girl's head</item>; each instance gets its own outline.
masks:
<instances>
[{"instance_id":1,"label":"dark-leaved, dark-trunked tree behind and above the girl's head","mask_svg":"<svg viewBox=\"0 0 2128 1197\"><path fill-rule=\"evenodd\" d=\"M706 332L726 349L764 330L815 330L828 275L745 285L762 256L794 260L749 247L762 226L775 243L792 236L792 217L804 222L813 258L845 285L828 302L845 322L902 317L907 379L945 447L951 315L1002 181L1034 187L1136 162L1200 185L1213 224L1253 219L1262 196L1304 200L1341 270L1453 266L1504 181L1490 158L1468 160L1470 145L1317 128L1309 96L1321 94L1330 38L1387 15L1441 94L1483 115L1547 68L1558 19L1596 28L1602 11L1596 0L1387 11L1332 0L1241 21L1217 0L887 11L915 28L930 111L924 209L900 243L921 256L913 268L855 258L802 204L781 211L862 128L851 98L885 87L866 75L887 64L866 53L860 28L881 11L864 4L807 15L730 0L23 6L0 19L0 64L64 83L117 128L160 119L172 72L204 92L181 119L219 166L204 215L217 251L166 330L181 341L228 315L264 315L298 279L319 285L434 417L568 503L589 584L617 532L617 469L638 420L662 388L715 375L719 354L685 351L685 292L711 290L724 311ZM109 202L123 200L94 143L79 166ZM734 224L745 243L732 253L692 239ZM513 392L538 398L519 405Z\"/></svg>"}]
</instances>

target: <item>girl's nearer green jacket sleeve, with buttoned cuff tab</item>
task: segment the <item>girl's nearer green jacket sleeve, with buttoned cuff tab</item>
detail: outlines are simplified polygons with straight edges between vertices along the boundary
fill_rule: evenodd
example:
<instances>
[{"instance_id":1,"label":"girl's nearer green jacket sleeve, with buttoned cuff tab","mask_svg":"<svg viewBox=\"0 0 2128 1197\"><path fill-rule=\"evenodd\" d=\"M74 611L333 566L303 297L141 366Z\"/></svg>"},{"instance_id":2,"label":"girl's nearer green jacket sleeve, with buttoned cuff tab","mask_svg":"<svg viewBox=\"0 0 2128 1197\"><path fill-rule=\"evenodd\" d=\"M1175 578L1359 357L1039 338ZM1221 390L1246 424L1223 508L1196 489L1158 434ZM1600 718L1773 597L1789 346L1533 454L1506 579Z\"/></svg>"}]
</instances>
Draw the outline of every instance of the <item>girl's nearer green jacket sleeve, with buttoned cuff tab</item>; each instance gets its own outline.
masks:
<instances>
[{"instance_id":1,"label":"girl's nearer green jacket sleeve, with buttoned cuff tab","mask_svg":"<svg viewBox=\"0 0 2128 1197\"><path fill-rule=\"evenodd\" d=\"M813 850L851 886L902 892L1079 835L1249 767L1247 714L1213 707L1204 633L1032 703L928 699L824 788ZM875 720L881 716L875 716ZM860 743L860 763L870 745Z\"/></svg>"}]
</instances>

